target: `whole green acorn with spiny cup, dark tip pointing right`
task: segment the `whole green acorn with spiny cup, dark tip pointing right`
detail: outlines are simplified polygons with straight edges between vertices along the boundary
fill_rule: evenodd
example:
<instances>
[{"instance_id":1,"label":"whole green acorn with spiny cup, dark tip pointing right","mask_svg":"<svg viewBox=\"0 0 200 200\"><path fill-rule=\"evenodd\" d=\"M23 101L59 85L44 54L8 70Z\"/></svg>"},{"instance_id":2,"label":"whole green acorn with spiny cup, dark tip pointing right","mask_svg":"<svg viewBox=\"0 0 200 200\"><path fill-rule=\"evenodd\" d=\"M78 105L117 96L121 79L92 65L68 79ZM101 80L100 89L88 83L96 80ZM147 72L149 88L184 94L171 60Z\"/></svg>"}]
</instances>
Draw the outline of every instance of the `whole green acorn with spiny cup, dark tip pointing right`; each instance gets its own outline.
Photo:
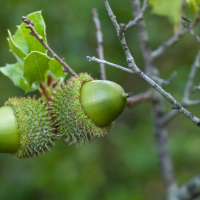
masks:
<instances>
[{"instance_id":1,"label":"whole green acorn with spiny cup, dark tip pointing right","mask_svg":"<svg viewBox=\"0 0 200 200\"><path fill-rule=\"evenodd\" d=\"M126 93L114 82L94 80L85 73L59 86L49 104L60 136L80 145L111 130L126 105Z\"/></svg>"}]
</instances>

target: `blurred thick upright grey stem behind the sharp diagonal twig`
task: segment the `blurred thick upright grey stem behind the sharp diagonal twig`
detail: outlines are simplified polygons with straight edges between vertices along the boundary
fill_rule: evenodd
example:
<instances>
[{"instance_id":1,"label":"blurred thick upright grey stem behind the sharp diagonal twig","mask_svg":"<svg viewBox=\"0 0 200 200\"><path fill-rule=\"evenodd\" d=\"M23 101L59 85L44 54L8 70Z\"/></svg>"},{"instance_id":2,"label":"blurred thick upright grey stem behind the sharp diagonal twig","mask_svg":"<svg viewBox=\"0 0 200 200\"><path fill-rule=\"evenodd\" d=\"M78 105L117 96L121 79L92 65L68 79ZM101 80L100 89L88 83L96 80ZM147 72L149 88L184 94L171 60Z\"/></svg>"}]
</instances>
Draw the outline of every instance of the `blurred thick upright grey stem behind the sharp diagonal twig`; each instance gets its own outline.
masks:
<instances>
[{"instance_id":1,"label":"blurred thick upright grey stem behind the sharp diagonal twig","mask_svg":"<svg viewBox=\"0 0 200 200\"><path fill-rule=\"evenodd\" d=\"M137 19L137 16L139 16L141 13L140 0L131 0L131 5L133 9L133 15ZM145 20L138 21L137 29L140 40L140 48L144 58L144 70L146 75L152 78L153 75L158 75L159 72L158 69L154 66L153 59L151 57L150 40L148 37ZM158 159L160 162L163 182L165 184L167 196L169 197L176 190L177 184L168 147L168 133L166 127L159 125L159 119L165 113L165 106L163 103L164 98L153 90L151 92L154 99L152 104L152 116L154 122L155 142L157 146Z\"/></svg>"}]
</instances>

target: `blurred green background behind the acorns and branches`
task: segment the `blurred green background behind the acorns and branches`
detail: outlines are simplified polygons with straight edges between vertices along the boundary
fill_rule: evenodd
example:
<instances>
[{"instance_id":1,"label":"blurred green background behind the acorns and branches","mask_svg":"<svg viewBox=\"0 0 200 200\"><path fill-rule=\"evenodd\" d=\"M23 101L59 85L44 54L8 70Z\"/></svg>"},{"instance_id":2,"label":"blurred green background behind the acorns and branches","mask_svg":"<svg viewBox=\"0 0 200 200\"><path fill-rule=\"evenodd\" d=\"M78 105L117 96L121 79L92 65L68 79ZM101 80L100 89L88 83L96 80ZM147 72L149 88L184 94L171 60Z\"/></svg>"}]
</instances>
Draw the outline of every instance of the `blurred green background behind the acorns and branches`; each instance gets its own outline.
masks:
<instances>
[{"instance_id":1,"label":"blurred green background behind the acorns and branches","mask_svg":"<svg viewBox=\"0 0 200 200\"><path fill-rule=\"evenodd\" d=\"M129 0L109 1L119 22L132 19ZM21 17L42 10L51 48L76 72L88 72L99 78L99 65L89 63L86 56L97 56L93 8L97 8L104 34L105 59L126 66L125 56L107 15L102 0L0 0L0 66L14 63L8 51L7 29L14 34ZM188 16L190 12L187 11ZM150 45L157 48L173 35L173 27L164 17L145 14ZM195 31L199 33L199 28ZM137 30L126 33L127 42L137 65L143 69ZM167 50L156 60L162 78L176 70L176 78L165 89L181 101L190 66L199 46L190 35ZM107 78L138 94L149 86L136 76L106 67ZM199 83L200 70L195 78ZM67 76L68 78L70 76ZM12 96L33 96L15 87L0 74L0 106ZM200 94L191 94L199 99ZM171 105L166 102L167 110ZM200 106L189 108L200 117ZM176 178L182 185L200 171L199 128L182 115L167 127ZM116 120L111 133L80 147L57 141L50 153L38 158L17 160L0 154L0 199L15 200L157 200L164 198L162 177L154 141L151 105L126 108Z\"/></svg>"}]
</instances>

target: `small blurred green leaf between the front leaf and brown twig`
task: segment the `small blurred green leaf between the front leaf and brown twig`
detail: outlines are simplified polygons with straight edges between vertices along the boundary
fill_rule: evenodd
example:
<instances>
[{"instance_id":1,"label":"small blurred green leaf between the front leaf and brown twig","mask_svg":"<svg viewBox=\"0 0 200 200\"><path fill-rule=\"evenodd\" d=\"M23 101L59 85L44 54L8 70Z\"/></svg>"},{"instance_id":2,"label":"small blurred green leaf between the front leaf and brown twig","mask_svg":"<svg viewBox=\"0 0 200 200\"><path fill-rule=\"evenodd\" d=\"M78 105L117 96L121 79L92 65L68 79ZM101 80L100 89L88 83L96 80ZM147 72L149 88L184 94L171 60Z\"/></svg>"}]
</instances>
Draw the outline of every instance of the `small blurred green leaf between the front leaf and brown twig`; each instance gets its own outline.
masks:
<instances>
[{"instance_id":1,"label":"small blurred green leaf between the front leaf and brown twig","mask_svg":"<svg viewBox=\"0 0 200 200\"><path fill-rule=\"evenodd\" d=\"M66 76L66 73L63 72L63 66L55 58L50 60L49 70L56 78L65 78Z\"/></svg>"}]
</instances>

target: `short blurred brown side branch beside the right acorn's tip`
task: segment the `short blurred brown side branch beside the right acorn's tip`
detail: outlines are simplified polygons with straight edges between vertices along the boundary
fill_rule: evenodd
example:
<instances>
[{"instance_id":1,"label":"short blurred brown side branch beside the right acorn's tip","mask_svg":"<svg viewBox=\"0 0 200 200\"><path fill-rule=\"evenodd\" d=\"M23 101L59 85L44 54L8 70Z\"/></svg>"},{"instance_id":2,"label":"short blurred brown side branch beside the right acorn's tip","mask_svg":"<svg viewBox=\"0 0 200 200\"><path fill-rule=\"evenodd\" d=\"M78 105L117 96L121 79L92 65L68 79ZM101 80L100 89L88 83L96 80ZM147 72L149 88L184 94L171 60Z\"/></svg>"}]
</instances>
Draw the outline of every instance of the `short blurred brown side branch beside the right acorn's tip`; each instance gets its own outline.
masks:
<instances>
[{"instance_id":1,"label":"short blurred brown side branch beside the right acorn's tip","mask_svg":"<svg viewBox=\"0 0 200 200\"><path fill-rule=\"evenodd\" d=\"M144 93L137 94L137 95L134 95L132 97L129 97L127 99L127 106L132 108L133 106L135 106L139 103L142 103L144 101L149 101L149 102L153 101L153 97L152 97L151 92L148 91L148 92L144 92Z\"/></svg>"}]
</instances>

